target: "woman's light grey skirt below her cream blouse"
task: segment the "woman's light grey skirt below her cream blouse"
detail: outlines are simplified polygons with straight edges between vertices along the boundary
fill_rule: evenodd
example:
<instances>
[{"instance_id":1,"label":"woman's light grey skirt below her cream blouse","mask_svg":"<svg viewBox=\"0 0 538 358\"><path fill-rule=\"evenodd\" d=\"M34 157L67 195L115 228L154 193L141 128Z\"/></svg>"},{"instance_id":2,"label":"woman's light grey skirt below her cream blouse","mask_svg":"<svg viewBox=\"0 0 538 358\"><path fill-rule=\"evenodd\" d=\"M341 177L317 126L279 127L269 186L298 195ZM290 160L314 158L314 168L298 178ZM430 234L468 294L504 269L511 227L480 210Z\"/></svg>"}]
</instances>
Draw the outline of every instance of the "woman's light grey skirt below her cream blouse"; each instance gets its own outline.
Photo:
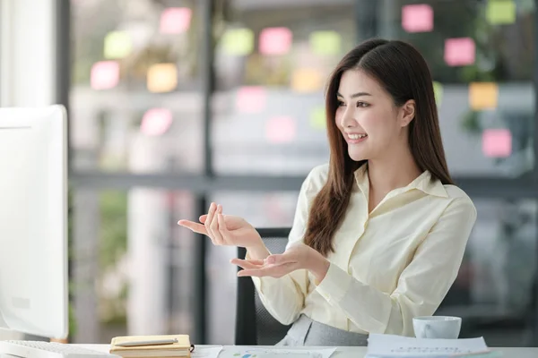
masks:
<instances>
[{"instance_id":1,"label":"woman's light grey skirt below her cream blouse","mask_svg":"<svg viewBox=\"0 0 538 358\"><path fill-rule=\"evenodd\" d=\"M315 320L310 320L307 316L301 314L299 319L288 330L286 337L276 345L366 346L368 345L368 335L334 328Z\"/></svg>"}]
</instances>

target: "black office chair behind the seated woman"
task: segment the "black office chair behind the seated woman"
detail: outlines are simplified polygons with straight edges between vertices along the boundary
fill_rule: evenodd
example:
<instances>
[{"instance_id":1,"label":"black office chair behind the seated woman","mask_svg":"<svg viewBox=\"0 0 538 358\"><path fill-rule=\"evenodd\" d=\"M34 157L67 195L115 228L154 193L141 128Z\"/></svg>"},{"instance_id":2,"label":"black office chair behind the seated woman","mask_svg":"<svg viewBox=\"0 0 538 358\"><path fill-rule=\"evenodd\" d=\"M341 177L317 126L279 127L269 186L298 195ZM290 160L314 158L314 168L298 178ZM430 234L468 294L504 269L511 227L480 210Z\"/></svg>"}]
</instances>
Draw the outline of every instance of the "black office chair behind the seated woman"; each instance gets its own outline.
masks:
<instances>
[{"instance_id":1,"label":"black office chair behind the seated woman","mask_svg":"<svg viewBox=\"0 0 538 358\"><path fill-rule=\"evenodd\" d=\"M288 243L290 228L257 229L265 245L272 253L282 253ZM247 251L238 249L238 257L244 259ZM284 326L265 310L250 277L239 277L236 314L236 345L275 345L290 326Z\"/></svg>"}]
</instances>

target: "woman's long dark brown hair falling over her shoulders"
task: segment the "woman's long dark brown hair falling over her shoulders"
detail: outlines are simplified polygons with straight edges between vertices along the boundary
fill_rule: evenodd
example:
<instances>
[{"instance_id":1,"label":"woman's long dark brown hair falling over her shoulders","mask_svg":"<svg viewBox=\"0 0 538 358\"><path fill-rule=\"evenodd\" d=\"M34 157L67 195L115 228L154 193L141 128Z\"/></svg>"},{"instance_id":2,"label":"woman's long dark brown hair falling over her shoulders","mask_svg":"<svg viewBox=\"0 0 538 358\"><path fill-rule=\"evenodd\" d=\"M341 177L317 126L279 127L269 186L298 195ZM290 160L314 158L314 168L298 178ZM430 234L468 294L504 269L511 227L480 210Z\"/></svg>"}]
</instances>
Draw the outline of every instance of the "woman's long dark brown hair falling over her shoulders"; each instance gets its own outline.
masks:
<instances>
[{"instance_id":1,"label":"woman's long dark brown hair falling over her shoulders","mask_svg":"<svg viewBox=\"0 0 538 358\"><path fill-rule=\"evenodd\" d=\"M375 78L392 96L396 106L409 99L416 102L415 117L409 124L409 145L421 169L429 170L443 184L451 184L445 150L439 131L438 109L428 64L419 51L403 41L369 39L353 48L336 66L325 98L327 136L330 144L329 175L313 200L304 242L327 255L334 251L333 236L348 207L354 172L366 161L353 161L347 143L336 127L336 93L343 72L361 70ZM330 224L329 224L330 223Z\"/></svg>"}]
</instances>

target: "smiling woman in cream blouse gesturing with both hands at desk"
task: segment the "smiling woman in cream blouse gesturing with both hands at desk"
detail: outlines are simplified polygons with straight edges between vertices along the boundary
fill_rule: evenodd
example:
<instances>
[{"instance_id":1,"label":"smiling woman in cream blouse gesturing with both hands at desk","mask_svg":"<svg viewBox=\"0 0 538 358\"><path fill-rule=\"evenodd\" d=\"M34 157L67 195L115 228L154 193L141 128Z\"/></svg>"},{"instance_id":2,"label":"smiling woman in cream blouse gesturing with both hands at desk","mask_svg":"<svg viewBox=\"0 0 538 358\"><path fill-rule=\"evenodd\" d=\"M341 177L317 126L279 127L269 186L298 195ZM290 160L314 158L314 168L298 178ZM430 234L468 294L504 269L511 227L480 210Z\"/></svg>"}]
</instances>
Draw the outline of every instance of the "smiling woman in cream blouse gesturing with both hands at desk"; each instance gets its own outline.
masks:
<instances>
[{"instance_id":1,"label":"smiling woman in cream blouse gesturing with both hands at desk","mask_svg":"<svg viewBox=\"0 0 538 358\"><path fill-rule=\"evenodd\" d=\"M366 345L369 333L413 336L456 279L476 219L448 174L428 65L402 41L371 39L343 57L326 92L328 165L299 192L287 250L272 255L253 226L212 203L216 245L247 248L280 345Z\"/></svg>"}]
</instances>

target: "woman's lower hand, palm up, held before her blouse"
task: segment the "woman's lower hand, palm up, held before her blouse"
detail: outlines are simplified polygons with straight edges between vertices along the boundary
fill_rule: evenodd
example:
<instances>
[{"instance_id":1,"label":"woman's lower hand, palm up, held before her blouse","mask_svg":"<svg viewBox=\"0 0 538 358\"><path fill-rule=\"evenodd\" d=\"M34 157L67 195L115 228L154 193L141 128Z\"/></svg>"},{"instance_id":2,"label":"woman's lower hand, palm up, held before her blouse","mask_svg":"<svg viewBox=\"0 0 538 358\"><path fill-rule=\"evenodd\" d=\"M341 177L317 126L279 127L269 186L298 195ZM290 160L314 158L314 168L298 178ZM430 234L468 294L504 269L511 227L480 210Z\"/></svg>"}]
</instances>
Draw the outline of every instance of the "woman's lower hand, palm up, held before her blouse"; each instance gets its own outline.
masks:
<instances>
[{"instance_id":1,"label":"woman's lower hand, palm up, held before her blouse","mask_svg":"<svg viewBox=\"0 0 538 358\"><path fill-rule=\"evenodd\" d=\"M239 277L282 277L297 269L308 269L321 282L330 262L318 251L303 243L294 244L282 254L270 255L265 260L233 259L231 263L243 268Z\"/></svg>"}]
</instances>

